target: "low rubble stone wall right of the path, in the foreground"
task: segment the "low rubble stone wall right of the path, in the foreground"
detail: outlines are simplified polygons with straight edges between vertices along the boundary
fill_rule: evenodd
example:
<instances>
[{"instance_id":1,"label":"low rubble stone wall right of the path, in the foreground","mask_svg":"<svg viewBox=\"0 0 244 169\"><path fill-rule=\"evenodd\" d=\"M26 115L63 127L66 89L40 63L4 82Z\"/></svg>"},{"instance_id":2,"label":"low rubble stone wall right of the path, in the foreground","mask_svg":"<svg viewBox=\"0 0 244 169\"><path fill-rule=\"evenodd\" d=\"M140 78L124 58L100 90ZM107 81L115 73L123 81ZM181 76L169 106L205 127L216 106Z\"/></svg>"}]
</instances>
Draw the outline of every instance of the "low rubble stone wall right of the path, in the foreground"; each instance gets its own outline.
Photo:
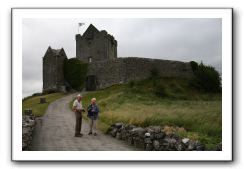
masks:
<instances>
[{"instance_id":1,"label":"low rubble stone wall right of the path, in the foreground","mask_svg":"<svg viewBox=\"0 0 244 169\"><path fill-rule=\"evenodd\" d=\"M146 151L204 151L205 146L199 141L181 138L175 133L167 133L159 126L147 128L123 123L115 123L108 133L119 140Z\"/></svg>"}]
</instances>

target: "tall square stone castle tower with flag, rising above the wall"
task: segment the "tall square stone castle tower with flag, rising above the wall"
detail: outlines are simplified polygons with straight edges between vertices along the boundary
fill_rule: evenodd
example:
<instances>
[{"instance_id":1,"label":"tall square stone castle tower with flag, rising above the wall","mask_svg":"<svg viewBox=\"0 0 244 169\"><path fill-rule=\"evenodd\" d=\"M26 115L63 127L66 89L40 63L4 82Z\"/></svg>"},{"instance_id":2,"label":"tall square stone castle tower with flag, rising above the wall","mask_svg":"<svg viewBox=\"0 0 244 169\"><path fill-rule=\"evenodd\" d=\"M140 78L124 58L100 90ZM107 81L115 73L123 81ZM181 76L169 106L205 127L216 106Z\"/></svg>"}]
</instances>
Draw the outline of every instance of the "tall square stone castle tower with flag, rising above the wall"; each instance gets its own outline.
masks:
<instances>
[{"instance_id":1,"label":"tall square stone castle tower with flag, rising above the wall","mask_svg":"<svg viewBox=\"0 0 244 169\"><path fill-rule=\"evenodd\" d=\"M90 24L83 35L76 35L76 58L84 62L117 58L117 41L105 30L99 31Z\"/></svg>"}]
</instances>

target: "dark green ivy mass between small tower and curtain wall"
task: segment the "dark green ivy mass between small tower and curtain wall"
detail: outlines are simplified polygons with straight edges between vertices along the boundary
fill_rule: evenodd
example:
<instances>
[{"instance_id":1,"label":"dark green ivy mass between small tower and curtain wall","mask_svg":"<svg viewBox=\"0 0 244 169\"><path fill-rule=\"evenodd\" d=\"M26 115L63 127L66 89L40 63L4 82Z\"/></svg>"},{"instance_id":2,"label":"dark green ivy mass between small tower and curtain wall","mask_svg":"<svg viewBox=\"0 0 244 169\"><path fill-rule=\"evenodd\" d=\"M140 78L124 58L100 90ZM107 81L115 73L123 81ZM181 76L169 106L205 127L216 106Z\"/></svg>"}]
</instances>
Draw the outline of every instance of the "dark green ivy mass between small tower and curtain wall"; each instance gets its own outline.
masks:
<instances>
[{"instance_id":1,"label":"dark green ivy mass between small tower and curtain wall","mask_svg":"<svg viewBox=\"0 0 244 169\"><path fill-rule=\"evenodd\" d=\"M75 90L82 90L86 80L88 64L71 58L64 62L64 78Z\"/></svg>"}]
</instances>

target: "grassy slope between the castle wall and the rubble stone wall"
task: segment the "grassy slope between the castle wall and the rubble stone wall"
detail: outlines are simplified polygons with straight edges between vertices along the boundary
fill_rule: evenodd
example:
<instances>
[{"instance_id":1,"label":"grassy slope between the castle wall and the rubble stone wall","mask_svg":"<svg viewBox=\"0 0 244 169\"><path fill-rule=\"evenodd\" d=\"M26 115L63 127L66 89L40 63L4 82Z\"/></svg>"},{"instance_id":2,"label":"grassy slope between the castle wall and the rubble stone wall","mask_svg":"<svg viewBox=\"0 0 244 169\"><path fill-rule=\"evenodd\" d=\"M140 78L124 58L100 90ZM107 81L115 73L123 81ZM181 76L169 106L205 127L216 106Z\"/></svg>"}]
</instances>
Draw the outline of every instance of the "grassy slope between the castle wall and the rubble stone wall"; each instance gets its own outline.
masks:
<instances>
[{"instance_id":1,"label":"grassy slope between the castle wall and the rubble stone wall","mask_svg":"<svg viewBox=\"0 0 244 169\"><path fill-rule=\"evenodd\" d=\"M178 126L183 137L198 139L212 150L221 142L221 94L208 94L189 87L183 79L145 80L115 85L83 97L85 107L97 98L102 131L115 122L137 126ZM159 86L159 87L155 87Z\"/></svg>"}]
</instances>

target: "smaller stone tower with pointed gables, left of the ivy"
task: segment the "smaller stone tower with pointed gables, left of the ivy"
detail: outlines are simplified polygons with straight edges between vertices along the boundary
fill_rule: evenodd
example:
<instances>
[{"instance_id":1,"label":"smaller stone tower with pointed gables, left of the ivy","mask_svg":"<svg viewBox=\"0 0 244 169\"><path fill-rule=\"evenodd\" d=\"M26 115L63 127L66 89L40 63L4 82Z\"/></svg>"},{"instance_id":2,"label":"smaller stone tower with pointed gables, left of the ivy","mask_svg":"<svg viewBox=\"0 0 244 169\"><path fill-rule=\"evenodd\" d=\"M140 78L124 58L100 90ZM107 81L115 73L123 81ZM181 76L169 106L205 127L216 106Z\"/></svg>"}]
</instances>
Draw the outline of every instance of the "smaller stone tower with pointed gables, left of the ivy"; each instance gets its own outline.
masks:
<instances>
[{"instance_id":1,"label":"smaller stone tower with pointed gables, left of the ivy","mask_svg":"<svg viewBox=\"0 0 244 169\"><path fill-rule=\"evenodd\" d=\"M43 57L43 93L64 91L65 80L63 75L64 60L67 59L64 49L48 47Z\"/></svg>"}]
</instances>

